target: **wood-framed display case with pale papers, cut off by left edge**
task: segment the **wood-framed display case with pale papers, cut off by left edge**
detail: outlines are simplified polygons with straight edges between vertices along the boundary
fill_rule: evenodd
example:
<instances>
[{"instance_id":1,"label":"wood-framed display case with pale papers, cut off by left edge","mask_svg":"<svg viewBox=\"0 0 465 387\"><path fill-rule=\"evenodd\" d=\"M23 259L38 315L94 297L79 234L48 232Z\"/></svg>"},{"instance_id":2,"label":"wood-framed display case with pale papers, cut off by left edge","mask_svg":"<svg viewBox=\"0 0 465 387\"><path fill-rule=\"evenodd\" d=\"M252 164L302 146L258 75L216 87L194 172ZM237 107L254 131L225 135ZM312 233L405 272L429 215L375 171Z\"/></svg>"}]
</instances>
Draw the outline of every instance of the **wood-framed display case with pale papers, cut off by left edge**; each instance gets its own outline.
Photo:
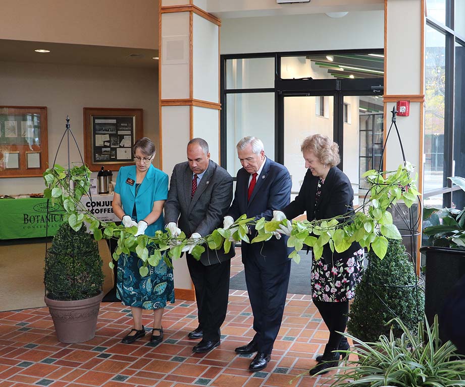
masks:
<instances>
[{"instance_id":1,"label":"wood-framed display case with pale papers, cut off by left edge","mask_svg":"<svg viewBox=\"0 0 465 387\"><path fill-rule=\"evenodd\" d=\"M47 108L0 106L0 177L42 176L47 163Z\"/></svg>"}]
</instances>

